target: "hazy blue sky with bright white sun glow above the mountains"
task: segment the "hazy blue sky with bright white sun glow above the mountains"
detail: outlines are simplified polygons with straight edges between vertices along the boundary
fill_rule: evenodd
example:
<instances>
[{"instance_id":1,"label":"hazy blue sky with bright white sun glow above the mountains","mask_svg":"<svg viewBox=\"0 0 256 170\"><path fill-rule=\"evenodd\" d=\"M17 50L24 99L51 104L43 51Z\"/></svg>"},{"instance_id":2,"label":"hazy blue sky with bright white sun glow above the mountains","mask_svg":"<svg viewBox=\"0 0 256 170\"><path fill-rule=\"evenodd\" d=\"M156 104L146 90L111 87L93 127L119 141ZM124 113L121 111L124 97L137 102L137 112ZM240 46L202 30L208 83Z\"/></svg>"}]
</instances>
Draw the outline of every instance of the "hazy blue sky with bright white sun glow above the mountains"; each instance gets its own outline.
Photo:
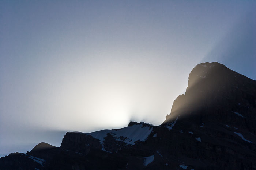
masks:
<instances>
[{"instance_id":1,"label":"hazy blue sky with bright white sun glow above the mountains","mask_svg":"<svg viewBox=\"0 0 256 170\"><path fill-rule=\"evenodd\" d=\"M256 1L0 1L0 156L159 125L196 64L256 79Z\"/></svg>"}]
</instances>

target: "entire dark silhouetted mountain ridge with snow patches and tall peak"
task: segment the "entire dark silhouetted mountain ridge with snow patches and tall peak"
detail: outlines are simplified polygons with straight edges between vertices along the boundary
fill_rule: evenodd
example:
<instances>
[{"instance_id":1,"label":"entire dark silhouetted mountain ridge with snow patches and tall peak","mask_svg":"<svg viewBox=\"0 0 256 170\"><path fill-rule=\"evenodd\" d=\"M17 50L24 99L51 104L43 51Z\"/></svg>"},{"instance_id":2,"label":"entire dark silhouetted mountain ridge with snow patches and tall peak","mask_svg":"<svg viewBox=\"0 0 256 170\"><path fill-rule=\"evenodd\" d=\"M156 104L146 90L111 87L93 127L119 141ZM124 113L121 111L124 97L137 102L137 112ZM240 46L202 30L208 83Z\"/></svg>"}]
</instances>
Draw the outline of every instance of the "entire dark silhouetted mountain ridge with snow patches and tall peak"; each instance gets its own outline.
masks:
<instances>
[{"instance_id":1,"label":"entire dark silhouetted mountain ridge with snow patches and tall peak","mask_svg":"<svg viewBox=\"0 0 256 170\"><path fill-rule=\"evenodd\" d=\"M198 64L160 126L130 122L67 132L60 147L39 143L0 158L0 170L256 169L256 81L217 62Z\"/></svg>"}]
</instances>

